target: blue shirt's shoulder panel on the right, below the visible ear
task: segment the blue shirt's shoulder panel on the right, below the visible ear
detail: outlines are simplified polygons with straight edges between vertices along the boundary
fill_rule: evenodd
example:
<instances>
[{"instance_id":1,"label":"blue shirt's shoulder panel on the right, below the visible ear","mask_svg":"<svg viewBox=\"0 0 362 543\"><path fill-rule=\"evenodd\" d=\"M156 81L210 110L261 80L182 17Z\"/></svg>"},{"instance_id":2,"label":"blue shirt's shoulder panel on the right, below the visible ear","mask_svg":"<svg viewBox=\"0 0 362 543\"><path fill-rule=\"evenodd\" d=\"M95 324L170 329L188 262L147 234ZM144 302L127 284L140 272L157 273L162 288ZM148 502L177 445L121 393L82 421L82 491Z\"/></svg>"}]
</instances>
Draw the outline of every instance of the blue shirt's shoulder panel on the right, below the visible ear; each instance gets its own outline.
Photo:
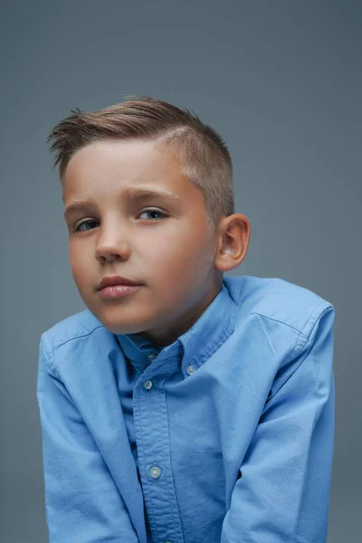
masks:
<instances>
[{"instance_id":1,"label":"blue shirt's shoulder panel on the right, below the visible ear","mask_svg":"<svg viewBox=\"0 0 362 543\"><path fill-rule=\"evenodd\" d=\"M329 300L281 278L243 275L224 281L239 306L238 322L258 314L309 336L321 313L330 309L334 312Z\"/></svg>"}]
</instances>

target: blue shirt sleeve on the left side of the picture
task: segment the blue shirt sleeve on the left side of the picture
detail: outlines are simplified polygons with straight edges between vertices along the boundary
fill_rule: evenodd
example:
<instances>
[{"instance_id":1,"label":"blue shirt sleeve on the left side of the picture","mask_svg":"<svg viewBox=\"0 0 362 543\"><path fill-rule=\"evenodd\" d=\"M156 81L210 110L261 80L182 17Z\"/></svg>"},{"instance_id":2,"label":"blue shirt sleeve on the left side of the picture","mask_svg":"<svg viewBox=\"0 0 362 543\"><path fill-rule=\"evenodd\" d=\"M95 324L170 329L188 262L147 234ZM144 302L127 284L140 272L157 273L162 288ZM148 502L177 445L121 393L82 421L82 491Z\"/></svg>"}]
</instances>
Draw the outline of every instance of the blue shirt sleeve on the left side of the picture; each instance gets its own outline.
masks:
<instances>
[{"instance_id":1,"label":"blue shirt sleeve on the left side of the picture","mask_svg":"<svg viewBox=\"0 0 362 543\"><path fill-rule=\"evenodd\" d=\"M49 543L138 543L125 503L40 340L37 400Z\"/></svg>"}]
</instances>

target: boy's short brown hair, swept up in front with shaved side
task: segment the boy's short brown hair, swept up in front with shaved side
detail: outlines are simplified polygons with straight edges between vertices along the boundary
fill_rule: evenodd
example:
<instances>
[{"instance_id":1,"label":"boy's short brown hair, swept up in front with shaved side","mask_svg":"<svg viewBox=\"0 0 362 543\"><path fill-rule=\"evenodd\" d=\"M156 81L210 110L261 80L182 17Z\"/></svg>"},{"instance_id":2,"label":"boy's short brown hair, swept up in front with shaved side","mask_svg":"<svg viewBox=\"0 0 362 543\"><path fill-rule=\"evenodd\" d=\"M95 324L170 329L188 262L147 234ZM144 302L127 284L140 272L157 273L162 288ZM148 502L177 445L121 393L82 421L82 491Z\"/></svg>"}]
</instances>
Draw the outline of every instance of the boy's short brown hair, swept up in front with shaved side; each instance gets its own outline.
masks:
<instances>
[{"instance_id":1,"label":"boy's short brown hair, swept up in front with shaved side","mask_svg":"<svg viewBox=\"0 0 362 543\"><path fill-rule=\"evenodd\" d=\"M103 110L71 110L49 132L47 143L56 151L53 167L64 173L71 157L92 141L154 139L171 148L181 160L182 173L204 194L208 223L215 228L222 216L234 213L233 164L223 138L194 112L163 100L134 96Z\"/></svg>"}]
</instances>

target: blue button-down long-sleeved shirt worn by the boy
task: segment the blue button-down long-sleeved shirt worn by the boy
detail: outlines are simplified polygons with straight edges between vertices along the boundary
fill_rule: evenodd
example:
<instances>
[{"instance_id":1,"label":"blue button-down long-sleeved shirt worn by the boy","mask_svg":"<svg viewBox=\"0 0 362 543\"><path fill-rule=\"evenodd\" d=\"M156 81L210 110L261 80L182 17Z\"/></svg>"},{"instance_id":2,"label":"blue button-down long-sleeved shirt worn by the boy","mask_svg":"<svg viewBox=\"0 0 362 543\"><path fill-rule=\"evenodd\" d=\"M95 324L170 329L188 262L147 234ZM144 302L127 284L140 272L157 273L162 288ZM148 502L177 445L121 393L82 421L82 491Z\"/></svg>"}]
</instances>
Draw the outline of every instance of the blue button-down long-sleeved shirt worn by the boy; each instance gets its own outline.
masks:
<instances>
[{"instance_id":1,"label":"blue button-down long-sleeved shirt worn by the boy","mask_svg":"<svg viewBox=\"0 0 362 543\"><path fill-rule=\"evenodd\" d=\"M43 332L50 543L325 543L334 318L244 275L164 348L90 310Z\"/></svg>"}]
</instances>

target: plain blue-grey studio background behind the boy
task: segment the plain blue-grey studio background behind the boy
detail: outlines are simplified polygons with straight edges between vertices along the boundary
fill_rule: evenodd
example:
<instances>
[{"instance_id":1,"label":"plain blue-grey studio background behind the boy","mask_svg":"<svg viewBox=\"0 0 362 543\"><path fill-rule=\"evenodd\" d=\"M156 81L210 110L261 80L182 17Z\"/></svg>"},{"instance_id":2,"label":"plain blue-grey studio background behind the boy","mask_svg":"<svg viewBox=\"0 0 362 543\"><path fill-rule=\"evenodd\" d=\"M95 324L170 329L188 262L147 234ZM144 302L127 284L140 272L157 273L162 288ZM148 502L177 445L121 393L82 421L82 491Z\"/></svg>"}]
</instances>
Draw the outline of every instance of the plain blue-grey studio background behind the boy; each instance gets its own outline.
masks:
<instances>
[{"instance_id":1,"label":"plain blue-grey studio background behind the boy","mask_svg":"<svg viewBox=\"0 0 362 543\"><path fill-rule=\"evenodd\" d=\"M226 140L249 251L336 309L328 543L360 540L361 22L351 1L2 2L1 533L45 543L41 334L84 305L47 132L75 107L149 94Z\"/></svg>"}]
</instances>

